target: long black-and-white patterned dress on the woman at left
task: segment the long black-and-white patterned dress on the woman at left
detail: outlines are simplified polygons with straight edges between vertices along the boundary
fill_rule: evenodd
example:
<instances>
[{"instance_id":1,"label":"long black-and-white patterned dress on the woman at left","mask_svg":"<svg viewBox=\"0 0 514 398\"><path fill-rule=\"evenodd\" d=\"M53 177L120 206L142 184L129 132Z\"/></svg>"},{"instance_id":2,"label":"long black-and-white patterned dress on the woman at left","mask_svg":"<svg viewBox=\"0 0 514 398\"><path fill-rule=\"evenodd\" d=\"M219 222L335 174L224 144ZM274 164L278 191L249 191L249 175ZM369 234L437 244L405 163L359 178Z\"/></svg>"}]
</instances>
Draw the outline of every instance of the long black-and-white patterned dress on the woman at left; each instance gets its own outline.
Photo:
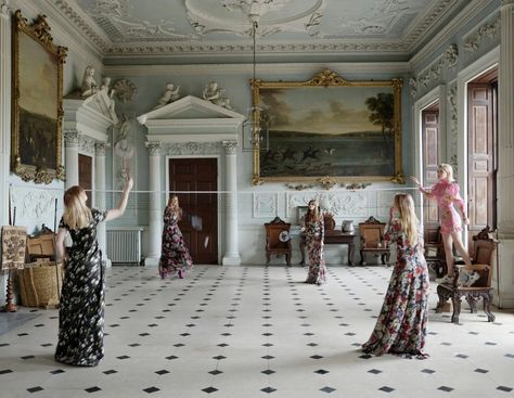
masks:
<instances>
[{"instance_id":1,"label":"long black-and-white patterned dress on the woman at left","mask_svg":"<svg viewBox=\"0 0 514 398\"><path fill-rule=\"evenodd\" d=\"M60 228L73 240L59 306L59 343L55 360L94 367L103 358L105 270L97 242L97 226L106 213L91 210L88 227L73 230L61 219Z\"/></svg>"}]
</instances>

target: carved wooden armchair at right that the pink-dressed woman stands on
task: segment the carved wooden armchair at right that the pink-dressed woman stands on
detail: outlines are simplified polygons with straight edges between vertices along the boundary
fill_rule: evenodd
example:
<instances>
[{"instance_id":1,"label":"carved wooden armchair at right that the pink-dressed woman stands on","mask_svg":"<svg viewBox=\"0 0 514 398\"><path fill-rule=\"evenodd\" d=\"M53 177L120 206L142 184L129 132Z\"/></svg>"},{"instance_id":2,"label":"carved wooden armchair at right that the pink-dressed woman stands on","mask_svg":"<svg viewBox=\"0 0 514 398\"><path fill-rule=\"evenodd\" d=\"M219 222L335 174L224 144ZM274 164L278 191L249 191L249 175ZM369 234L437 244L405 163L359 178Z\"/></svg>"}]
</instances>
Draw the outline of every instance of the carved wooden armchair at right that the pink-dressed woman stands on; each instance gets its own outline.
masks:
<instances>
[{"instance_id":1,"label":"carved wooden armchair at right that the pink-dressed woman stands on","mask_svg":"<svg viewBox=\"0 0 514 398\"><path fill-rule=\"evenodd\" d=\"M459 323L459 314L461 313L461 299L465 297L470 304L471 312L475 313L476 301L479 298L484 299L484 312L487 314L488 322L494 321L494 316L491 313L490 305L492 301L492 264L498 242L491 237L489 227L483 229L478 234L473 236L474 255L472 258L473 265L455 266L455 274L452 283L442 283L437 286L437 295L439 296L439 304L436 312L441 312L445 303L451 298L453 304L453 314L451 321ZM476 281L471 280L471 285L462 284L463 273L467 275L477 272L479 278Z\"/></svg>"}]
</instances>

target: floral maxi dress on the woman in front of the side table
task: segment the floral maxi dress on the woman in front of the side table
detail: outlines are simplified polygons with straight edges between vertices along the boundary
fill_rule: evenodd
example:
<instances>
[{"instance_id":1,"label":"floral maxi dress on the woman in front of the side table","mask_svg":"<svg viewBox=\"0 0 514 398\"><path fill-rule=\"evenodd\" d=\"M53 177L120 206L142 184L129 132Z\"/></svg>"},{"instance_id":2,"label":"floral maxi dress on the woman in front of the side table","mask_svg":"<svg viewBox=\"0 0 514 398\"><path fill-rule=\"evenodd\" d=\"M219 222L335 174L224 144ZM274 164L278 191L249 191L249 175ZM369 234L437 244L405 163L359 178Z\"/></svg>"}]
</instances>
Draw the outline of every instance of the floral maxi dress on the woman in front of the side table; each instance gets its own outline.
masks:
<instances>
[{"instance_id":1,"label":"floral maxi dress on the woman in front of the side table","mask_svg":"<svg viewBox=\"0 0 514 398\"><path fill-rule=\"evenodd\" d=\"M318 285L326 283L326 267L323 259L323 217L319 220L310 220L305 223L305 239L309 253L309 273L306 283Z\"/></svg>"}]
</instances>

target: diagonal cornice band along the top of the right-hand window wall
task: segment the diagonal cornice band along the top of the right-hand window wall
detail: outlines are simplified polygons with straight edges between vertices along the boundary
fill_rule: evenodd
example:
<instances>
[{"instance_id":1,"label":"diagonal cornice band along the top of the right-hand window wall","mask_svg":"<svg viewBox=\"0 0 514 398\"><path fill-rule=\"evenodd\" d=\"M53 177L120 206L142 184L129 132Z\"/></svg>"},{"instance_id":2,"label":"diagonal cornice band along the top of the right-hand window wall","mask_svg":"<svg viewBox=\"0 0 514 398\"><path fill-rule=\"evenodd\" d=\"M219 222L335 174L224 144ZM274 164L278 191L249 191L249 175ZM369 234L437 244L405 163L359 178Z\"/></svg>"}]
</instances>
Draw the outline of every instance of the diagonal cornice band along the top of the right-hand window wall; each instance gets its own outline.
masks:
<instances>
[{"instance_id":1,"label":"diagonal cornice band along the top of the right-hand window wall","mask_svg":"<svg viewBox=\"0 0 514 398\"><path fill-rule=\"evenodd\" d=\"M464 8L454 18L451 20L444 28L441 28L437 35L421 49L412 59L409 64L412 70L417 70L434 56L434 53L442 48L448 38L451 37L455 31L467 24L467 22L478 15L487 5L490 4L490 0L475 0Z\"/></svg>"}]
</instances>

